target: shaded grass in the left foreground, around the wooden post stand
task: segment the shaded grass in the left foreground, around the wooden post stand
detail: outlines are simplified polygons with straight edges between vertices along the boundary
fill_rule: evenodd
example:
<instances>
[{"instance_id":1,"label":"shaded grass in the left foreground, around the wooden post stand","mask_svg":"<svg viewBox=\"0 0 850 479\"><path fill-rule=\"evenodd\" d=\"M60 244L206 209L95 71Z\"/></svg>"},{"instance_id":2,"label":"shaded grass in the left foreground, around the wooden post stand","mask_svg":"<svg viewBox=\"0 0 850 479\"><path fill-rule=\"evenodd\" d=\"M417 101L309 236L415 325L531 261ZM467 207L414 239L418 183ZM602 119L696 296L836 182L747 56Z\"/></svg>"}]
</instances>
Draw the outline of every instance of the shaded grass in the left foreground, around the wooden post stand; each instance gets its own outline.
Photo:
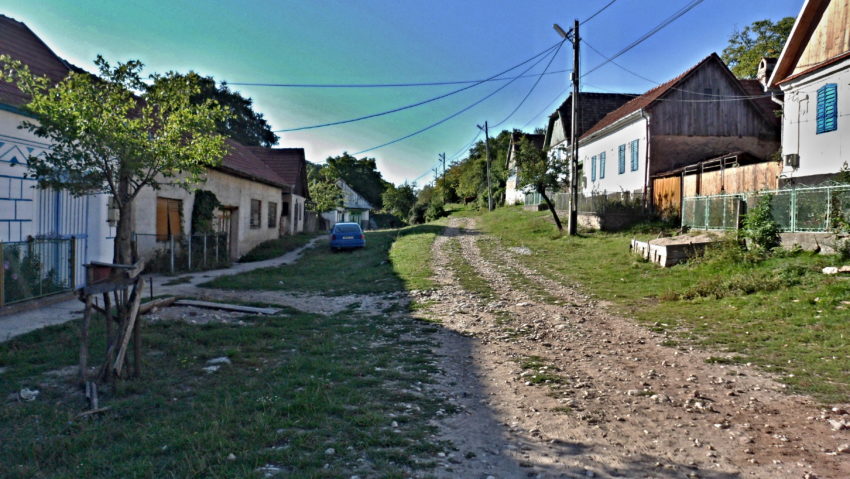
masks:
<instances>
[{"instance_id":1,"label":"shaded grass in the left foreground, around the wooden post stand","mask_svg":"<svg viewBox=\"0 0 850 479\"><path fill-rule=\"evenodd\" d=\"M4 397L41 394L0 408L0 475L262 477L255 470L275 464L286 477L401 478L444 450L428 422L451 409L418 391L435 373L426 323L292 310L247 321L146 324L144 378L102 391L111 409L90 418L77 417L73 376L45 374L76 363L77 321L3 343ZM102 324L93 358L104 354ZM218 356L233 364L201 370Z\"/></svg>"}]
</instances>

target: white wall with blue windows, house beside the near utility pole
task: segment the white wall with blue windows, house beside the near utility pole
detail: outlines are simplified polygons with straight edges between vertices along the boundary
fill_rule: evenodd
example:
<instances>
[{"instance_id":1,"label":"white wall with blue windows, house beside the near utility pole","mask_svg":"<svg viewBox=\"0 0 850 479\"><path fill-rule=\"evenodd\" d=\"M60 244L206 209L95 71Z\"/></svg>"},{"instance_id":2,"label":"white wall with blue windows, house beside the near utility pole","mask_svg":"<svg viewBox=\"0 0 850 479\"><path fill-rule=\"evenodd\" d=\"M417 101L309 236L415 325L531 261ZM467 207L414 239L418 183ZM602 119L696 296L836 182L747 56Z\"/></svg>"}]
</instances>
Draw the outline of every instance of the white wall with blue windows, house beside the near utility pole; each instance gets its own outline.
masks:
<instances>
[{"instance_id":1,"label":"white wall with blue windows, house beside the near utility pole","mask_svg":"<svg viewBox=\"0 0 850 479\"><path fill-rule=\"evenodd\" d=\"M638 140L638 169L631 169L631 142ZM626 171L619 173L619 148L626 145ZM605 178L599 177L599 154L605 152ZM646 173L646 120L638 118L632 123L592 142L579 146L579 160L585 181L584 194L634 191L644 187ZM654 152L653 152L654 154ZM591 157L597 157L596 181L592 181ZM581 181L581 180L580 180Z\"/></svg>"}]
</instances>

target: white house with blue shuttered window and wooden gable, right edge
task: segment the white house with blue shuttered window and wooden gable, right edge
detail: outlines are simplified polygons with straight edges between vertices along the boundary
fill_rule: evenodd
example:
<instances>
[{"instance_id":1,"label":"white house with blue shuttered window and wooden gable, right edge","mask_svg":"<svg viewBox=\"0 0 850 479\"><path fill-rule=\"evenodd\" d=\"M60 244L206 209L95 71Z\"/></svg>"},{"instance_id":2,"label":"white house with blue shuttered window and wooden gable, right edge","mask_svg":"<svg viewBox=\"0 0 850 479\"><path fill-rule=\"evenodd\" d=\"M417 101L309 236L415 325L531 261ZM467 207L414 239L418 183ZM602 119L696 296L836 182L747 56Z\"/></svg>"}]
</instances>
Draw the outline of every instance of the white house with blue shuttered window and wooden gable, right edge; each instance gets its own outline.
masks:
<instances>
[{"instance_id":1,"label":"white house with blue shuttered window and wooden gable, right edge","mask_svg":"<svg viewBox=\"0 0 850 479\"><path fill-rule=\"evenodd\" d=\"M783 184L850 163L850 0L806 0L768 87L784 93Z\"/></svg>"}]
</instances>

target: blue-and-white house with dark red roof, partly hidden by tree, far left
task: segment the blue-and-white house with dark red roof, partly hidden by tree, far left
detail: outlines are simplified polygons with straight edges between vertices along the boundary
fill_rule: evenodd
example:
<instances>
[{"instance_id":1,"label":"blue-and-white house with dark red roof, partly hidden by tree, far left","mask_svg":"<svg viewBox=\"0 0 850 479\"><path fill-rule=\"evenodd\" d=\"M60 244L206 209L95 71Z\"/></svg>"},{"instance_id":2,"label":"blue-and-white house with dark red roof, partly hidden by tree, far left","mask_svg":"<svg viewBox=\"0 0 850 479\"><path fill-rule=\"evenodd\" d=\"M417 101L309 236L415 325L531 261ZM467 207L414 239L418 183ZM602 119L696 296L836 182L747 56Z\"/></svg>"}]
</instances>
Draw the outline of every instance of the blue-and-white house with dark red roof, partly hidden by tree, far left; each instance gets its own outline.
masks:
<instances>
[{"instance_id":1,"label":"blue-and-white house with dark red roof, partly hidden by tree, far left","mask_svg":"<svg viewBox=\"0 0 850 479\"><path fill-rule=\"evenodd\" d=\"M25 24L4 15L0 15L0 54L10 55L27 64L33 73L57 82L75 69ZM69 286L82 287L83 264L112 260L115 223L110 217L108 196L74 197L65 191L37 187L35 178L27 174L27 161L49 150L50 144L18 128L23 121L33 121L23 109L27 101L15 86L0 82L0 243L11 254L14 243L53 241L50 248L33 250L41 251L37 254L44 273L52 269L63 280L75 279ZM73 252L63 246L71 239L76 247ZM3 273L9 273L8 257L3 266Z\"/></svg>"}]
</instances>

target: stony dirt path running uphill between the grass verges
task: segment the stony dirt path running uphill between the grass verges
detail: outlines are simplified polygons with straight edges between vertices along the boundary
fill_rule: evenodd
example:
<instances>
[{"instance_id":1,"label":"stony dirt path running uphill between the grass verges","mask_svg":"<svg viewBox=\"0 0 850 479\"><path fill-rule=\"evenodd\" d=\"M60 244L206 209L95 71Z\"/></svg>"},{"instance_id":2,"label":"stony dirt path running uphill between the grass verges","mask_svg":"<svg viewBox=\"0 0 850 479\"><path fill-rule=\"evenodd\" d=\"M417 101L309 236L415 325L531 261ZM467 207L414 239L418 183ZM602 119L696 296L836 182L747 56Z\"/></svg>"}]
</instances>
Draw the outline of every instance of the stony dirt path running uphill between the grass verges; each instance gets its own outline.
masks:
<instances>
[{"instance_id":1,"label":"stony dirt path running uphill between the grass verges","mask_svg":"<svg viewBox=\"0 0 850 479\"><path fill-rule=\"evenodd\" d=\"M490 298L458 285L454 241ZM520 265L528 252L483 254L482 241L493 240L474 220L452 219L433 247L441 287L416 298L444 326L436 392L460 410L438 423L459 449L440 458L439 477L850 477L850 455L837 452L850 432L828 423L845 411L786 394L754 368L662 346Z\"/></svg>"}]
</instances>

